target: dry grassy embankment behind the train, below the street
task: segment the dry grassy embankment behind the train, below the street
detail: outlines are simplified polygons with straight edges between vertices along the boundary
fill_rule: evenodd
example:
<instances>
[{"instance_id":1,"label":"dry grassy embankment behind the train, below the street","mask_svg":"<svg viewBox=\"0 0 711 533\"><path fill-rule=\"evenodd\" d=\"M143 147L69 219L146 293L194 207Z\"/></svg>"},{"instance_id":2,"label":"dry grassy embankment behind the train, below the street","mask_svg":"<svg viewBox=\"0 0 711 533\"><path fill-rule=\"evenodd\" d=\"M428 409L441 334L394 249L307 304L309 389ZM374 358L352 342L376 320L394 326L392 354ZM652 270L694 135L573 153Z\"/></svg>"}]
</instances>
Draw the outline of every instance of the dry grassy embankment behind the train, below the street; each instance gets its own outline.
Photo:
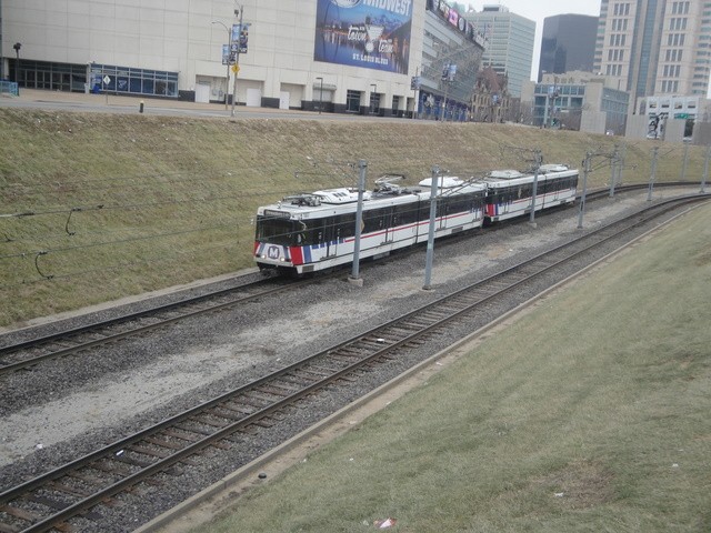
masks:
<instances>
[{"instance_id":1,"label":"dry grassy embankment behind the train, below the street","mask_svg":"<svg viewBox=\"0 0 711 533\"><path fill-rule=\"evenodd\" d=\"M407 184L433 164L459 175L547 162L579 165L619 138L502 124L378 120L193 120L0 109L0 326L251 266L258 205L288 193ZM651 141L628 143L625 182L647 181ZM662 150L659 180L680 177L682 149ZM689 180L703 152L690 149ZM589 187L609 162L593 162ZM296 172L299 172L297 175ZM19 215L23 213L23 215Z\"/></svg>"}]
</instances>

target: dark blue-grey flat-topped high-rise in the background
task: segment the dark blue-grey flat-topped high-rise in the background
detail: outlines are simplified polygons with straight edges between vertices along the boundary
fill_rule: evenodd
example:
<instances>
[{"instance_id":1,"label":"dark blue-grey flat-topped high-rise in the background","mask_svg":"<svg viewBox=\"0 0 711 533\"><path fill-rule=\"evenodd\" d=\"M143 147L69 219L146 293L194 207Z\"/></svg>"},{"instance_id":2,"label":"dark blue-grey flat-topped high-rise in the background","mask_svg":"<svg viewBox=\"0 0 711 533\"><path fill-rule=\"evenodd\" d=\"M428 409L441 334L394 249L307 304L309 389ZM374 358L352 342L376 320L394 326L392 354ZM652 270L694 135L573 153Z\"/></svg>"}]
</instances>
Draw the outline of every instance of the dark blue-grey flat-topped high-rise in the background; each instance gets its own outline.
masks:
<instances>
[{"instance_id":1,"label":"dark blue-grey flat-topped high-rise in the background","mask_svg":"<svg viewBox=\"0 0 711 533\"><path fill-rule=\"evenodd\" d=\"M592 72L597 34L598 17L570 13L547 17L543 20L538 81L541 81L543 72Z\"/></svg>"}]
</instances>

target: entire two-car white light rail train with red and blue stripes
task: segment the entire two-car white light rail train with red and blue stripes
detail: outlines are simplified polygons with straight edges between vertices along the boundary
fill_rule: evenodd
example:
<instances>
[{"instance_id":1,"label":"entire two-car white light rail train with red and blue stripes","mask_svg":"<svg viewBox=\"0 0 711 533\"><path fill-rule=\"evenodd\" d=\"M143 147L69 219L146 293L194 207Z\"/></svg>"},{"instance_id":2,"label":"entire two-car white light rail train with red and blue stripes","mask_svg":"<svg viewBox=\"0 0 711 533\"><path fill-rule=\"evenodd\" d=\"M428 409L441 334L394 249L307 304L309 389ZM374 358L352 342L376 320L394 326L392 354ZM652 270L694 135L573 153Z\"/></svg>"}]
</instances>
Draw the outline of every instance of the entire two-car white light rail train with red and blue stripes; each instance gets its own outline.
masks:
<instances>
[{"instance_id":1,"label":"entire two-car white light rail train with red and blue stripes","mask_svg":"<svg viewBox=\"0 0 711 533\"><path fill-rule=\"evenodd\" d=\"M572 203L578 170L548 164L534 173L493 171L484 179L439 177L437 239L530 213L535 181L535 210ZM432 179L401 188L381 181L365 191L360 231L361 259L427 242ZM351 263L356 245L358 191L328 189L284 198L257 210L254 261L260 270L304 274Z\"/></svg>"}]
</instances>

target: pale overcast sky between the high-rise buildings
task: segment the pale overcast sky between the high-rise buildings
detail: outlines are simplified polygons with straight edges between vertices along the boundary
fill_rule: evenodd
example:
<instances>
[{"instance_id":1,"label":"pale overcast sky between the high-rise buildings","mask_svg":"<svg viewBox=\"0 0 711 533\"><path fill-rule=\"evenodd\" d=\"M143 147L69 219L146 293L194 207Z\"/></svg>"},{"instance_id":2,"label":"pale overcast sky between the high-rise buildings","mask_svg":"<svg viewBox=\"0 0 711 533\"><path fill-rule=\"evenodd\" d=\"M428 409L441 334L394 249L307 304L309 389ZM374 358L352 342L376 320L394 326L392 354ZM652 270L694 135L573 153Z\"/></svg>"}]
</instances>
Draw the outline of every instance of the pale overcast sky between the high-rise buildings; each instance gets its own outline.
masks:
<instances>
[{"instance_id":1,"label":"pale overcast sky between the high-rise buildings","mask_svg":"<svg viewBox=\"0 0 711 533\"><path fill-rule=\"evenodd\" d=\"M538 76L538 60L541 56L541 34L543 32L543 19L554 14L592 14L600 16L600 0L478 0L471 2L458 0L459 3L471 6L477 11L481 11L484 6L501 4L509 8L509 12L520 14L535 22L535 41L533 47L533 64L531 67L531 79Z\"/></svg>"}]
</instances>

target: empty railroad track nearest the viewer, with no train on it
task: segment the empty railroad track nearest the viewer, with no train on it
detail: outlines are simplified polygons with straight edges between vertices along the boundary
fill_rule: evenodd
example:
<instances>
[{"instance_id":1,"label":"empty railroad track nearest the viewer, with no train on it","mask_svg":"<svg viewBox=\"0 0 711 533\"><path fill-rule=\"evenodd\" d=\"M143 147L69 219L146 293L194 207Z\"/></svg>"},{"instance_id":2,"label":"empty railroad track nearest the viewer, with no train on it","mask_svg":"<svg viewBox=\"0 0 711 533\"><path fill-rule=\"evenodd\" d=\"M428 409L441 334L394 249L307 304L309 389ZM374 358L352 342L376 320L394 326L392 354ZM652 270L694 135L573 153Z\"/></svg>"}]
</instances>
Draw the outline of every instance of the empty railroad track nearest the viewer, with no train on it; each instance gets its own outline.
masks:
<instances>
[{"instance_id":1,"label":"empty railroad track nearest the viewer, with no train on it","mask_svg":"<svg viewBox=\"0 0 711 533\"><path fill-rule=\"evenodd\" d=\"M348 388L364 373L397 360L403 350L425 344L455 322L469 323L504 293L553 273L569 261L624 239L681 205L711 195L673 199L612 222L577 240L521 262L453 294L442 296L369 332L304 358L254 382L204 402L109 446L0 493L1 532L82 529L100 521L101 507L140 482L160 483L158 474L180 475L206 450L239 447L246 438L283 422L302 402ZM629 239L629 238L628 238ZM615 241L617 240L617 241ZM617 245L617 244L615 244ZM595 258L597 259L597 258ZM551 281L554 283L555 281ZM227 453L227 452L226 452Z\"/></svg>"}]
</instances>

